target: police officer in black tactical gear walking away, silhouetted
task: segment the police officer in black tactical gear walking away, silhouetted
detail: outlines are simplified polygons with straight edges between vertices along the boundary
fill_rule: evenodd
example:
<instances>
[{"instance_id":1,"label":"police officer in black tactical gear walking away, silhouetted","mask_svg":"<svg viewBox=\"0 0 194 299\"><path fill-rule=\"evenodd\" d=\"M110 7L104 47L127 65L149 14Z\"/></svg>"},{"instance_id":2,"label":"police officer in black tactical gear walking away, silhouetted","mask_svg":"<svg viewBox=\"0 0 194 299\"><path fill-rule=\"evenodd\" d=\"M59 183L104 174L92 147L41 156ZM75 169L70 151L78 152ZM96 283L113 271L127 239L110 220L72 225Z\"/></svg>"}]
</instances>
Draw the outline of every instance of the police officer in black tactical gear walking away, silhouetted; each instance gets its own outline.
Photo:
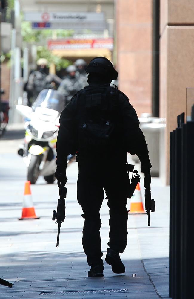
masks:
<instances>
[{"instance_id":1,"label":"police officer in black tactical gear walking away, silhouetted","mask_svg":"<svg viewBox=\"0 0 194 299\"><path fill-rule=\"evenodd\" d=\"M110 209L105 261L114 273L124 273L119 254L127 245L127 152L138 155L142 172L149 173L152 166L135 109L124 93L110 86L117 79L112 63L96 57L87 65L86 73L89 86L75 94L61 113L55 176L66 184L66 157L77 153L77 198L85 219L82 244L91 266L88 276L98 277L104 270L99 213L103 189Z\"/></svg>"}]
</instances>

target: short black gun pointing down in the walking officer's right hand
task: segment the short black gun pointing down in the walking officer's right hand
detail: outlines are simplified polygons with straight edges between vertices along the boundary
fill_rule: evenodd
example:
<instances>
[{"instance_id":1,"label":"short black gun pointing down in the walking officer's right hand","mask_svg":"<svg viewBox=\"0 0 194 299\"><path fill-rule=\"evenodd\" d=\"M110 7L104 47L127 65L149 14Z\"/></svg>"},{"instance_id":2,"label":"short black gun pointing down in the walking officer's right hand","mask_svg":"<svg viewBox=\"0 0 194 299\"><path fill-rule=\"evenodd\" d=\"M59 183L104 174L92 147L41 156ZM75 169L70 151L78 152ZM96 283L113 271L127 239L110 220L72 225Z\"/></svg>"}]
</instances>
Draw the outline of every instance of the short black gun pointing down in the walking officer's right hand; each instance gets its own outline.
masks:
<instances>
[{"instance_id":1,"label":"short black gun pointing down in the walking officer's right hand","mask_svg":"<svg viewBox=\"0 0 194 299\"><path fill-rule=\"evenodd\" d=\"M150 226L150 211L155 212L155 201L151 199L151 175L150 173L145 173L144 177L144 187L145 187L145 209L147 212L148 226Z\"/></svg>"}]
</instances>

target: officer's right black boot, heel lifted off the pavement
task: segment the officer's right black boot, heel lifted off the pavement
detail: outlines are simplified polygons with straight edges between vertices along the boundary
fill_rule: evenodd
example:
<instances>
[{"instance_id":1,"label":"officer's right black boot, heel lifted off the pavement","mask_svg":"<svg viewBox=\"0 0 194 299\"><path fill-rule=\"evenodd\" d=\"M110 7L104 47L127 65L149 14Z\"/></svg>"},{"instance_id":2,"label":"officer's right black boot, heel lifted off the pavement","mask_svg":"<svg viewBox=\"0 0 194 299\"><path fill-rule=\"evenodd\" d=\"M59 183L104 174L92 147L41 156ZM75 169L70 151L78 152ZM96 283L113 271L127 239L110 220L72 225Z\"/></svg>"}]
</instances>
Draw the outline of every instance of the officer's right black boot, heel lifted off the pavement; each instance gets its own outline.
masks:
<instances>
[{"instance_id":1,"label":"officer's right black boot, heel lifted off the pavement","mask_svg":"<svg viewBox=\"0 0 194 299\"><path fill-rule=\"evenodd\" d=\"M114 273L119 274L125 272L125 266L123 265L120 259L119 252L116 252L113 249L108 248L105 261L107 262L107 264L112 266L112 271Z\"/></svg>"}]
</instances>

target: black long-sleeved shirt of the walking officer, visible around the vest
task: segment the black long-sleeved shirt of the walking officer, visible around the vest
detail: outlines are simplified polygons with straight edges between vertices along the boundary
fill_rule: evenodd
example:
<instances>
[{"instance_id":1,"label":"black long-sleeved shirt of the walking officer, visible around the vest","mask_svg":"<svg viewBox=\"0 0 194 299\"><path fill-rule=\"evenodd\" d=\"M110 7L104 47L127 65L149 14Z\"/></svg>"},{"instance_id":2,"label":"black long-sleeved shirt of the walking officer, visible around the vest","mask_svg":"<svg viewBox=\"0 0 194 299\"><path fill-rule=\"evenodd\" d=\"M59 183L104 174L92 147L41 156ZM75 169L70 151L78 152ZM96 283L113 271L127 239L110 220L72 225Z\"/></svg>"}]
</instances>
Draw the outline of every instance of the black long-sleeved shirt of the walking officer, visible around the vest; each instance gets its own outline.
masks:
<instances>
[{"instance_id":1,"label":"black long-sleeved shirt of the walking officer, visible around the vest","mask_svg":"<svg viewBox=\"0 0 194 299\"><path fill-rule=\"evenodd\" d=\"M97 85L93 85L93 87L96 88ZM109 85L107 85L107 87L109 87ZM92 85L86 86L84 90L91 88ZM119 90L117 92L117 101L117 112L119 126L124 139L124 150L131 154L138 155L141 163L144 163L144 161L149 160L149 156L143 132L139 128L139 120L136 111L129 103L128 97ZM78 150L77 115L79 107L78 96L75 94L61 113L56 145L57 164L64 164L67 155L70 153L75 154ZM116 151L119 150L119 146L120 144L118 143Z\"/></svg>"}]
</instances>

